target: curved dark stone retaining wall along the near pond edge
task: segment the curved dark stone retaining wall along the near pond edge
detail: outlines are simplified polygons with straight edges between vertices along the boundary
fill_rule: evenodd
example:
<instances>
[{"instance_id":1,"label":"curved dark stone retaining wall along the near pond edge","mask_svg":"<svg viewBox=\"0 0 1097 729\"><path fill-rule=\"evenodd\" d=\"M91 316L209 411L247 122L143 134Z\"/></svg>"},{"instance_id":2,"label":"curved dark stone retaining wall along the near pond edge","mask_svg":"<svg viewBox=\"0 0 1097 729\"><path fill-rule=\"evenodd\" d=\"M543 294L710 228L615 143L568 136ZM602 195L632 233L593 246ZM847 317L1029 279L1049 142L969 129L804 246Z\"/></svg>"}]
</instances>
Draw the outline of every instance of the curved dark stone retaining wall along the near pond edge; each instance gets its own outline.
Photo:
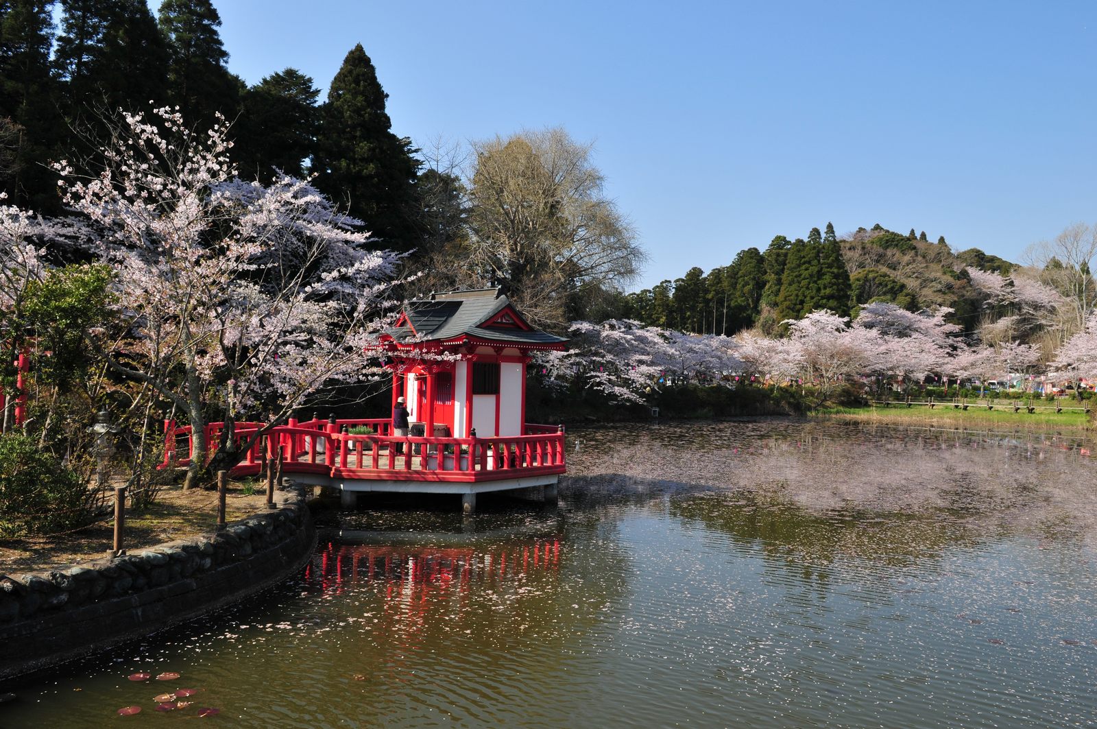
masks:
<instances>
[{"instance_id":1,"label":"curved dark stone retaining wall along the near pond edge","mask_svg":"<svg viewBox=\"0 0 1097 729\"><path fill-rule=\"evenodd\" d=\"M0 682L235 603L298 570L316 547L303 489L224 531L69 569L0 575Z\"/></svg>"}]
</instances>

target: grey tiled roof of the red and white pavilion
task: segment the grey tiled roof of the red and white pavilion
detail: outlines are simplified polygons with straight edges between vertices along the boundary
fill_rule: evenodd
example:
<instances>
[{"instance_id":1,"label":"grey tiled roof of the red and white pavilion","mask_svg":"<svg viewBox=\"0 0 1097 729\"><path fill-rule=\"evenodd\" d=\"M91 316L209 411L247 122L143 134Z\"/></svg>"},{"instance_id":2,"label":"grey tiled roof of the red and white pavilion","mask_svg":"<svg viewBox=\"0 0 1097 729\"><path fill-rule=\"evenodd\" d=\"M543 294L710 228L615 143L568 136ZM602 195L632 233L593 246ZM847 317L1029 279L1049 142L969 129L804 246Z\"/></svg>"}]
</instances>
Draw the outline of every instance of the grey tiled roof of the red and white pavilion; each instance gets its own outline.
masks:
<instances>
[{"instance_id":1,"label":"grey tiled roof of the red and white pavilion","mask_svg":"<svg viewBox=\"0 0 1097 729\"><path fill-rule=\"evenodd\" d=\"M486 321L510 305L510 300L498 289L475 289L433 293L430 299L408 302L404 310L415 330L425 339L453 339L460 336L495 339L514 344L554 345L567 341L563 337L519 328L484 328ZM397 340L414 336L409 327L389 330Z\"/></svg>"}]
</instances>

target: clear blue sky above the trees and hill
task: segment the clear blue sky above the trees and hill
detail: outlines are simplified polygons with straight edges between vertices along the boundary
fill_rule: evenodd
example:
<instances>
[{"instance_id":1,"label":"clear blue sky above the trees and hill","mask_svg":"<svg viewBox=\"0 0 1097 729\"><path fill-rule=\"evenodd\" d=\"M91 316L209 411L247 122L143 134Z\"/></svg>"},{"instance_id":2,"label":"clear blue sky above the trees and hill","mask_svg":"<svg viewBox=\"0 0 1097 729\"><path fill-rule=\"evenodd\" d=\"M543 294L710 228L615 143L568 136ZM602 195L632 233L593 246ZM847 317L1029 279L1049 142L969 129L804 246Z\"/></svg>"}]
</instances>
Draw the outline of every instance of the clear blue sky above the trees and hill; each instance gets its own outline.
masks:
<instances>
[{"instance_id":1,"label":"clear blue sky above the trees and hill","mask_svg":"<svg viewBox=\"0 0 1097 729\"><path fill-rule=\"evenodd\" d=\"M1011 260L1097 221L1094 2L214 4L249 83L326 92L361 43L402 136L593 142L651 255L634 288L827 221Z\"/></svg>"}]
</instances>

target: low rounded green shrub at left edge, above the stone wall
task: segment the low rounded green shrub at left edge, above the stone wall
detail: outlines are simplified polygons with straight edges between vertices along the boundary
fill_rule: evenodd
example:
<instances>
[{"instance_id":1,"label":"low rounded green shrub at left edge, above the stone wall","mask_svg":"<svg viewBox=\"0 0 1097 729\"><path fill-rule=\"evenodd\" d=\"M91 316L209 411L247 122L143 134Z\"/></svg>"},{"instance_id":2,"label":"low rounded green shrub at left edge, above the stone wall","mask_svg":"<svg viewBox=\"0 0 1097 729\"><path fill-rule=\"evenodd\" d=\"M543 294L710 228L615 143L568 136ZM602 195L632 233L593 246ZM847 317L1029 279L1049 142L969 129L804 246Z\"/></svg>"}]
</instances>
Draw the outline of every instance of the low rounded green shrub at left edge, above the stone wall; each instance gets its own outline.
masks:
<instances>
[{"instance_id":1,"label":"low rounded green shrub at left edge, above the stone wall","mask_svg":"<svg viewBox=\"0 0 1097 729\"><path fill-rule=\"evenodd\" d=\"M91 520L87 485L34 438L0 436L0 537L73 529Z\"/></svg>"}]
</instances>

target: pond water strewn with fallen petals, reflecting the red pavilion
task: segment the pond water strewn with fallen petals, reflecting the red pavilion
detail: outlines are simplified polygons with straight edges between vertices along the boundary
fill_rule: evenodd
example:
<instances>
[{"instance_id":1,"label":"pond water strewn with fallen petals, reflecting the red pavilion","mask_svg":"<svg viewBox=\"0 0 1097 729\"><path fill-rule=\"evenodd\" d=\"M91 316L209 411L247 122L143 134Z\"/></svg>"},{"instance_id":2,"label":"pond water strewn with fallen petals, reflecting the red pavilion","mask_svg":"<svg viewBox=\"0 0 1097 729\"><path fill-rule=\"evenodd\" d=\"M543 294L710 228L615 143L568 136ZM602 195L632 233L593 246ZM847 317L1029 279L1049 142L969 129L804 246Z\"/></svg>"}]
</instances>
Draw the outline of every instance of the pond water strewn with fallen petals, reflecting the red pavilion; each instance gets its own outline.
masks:
<instances>
[{"instance_id":1,"label":"pond water strewn with fallen petals, reflecting the red pavilion","mask_svg":"<svg viewBox=\"0 0 1097 729\"><path fill-rule=\"evenodd\" d=\"M201 707L255 727L1093 726L1087 448L788 420L575 430L558 508L330 515L302 574L21 689L0 726ZM182 687L193 704L154 710Z\"/></svg>"}]
</instances>

